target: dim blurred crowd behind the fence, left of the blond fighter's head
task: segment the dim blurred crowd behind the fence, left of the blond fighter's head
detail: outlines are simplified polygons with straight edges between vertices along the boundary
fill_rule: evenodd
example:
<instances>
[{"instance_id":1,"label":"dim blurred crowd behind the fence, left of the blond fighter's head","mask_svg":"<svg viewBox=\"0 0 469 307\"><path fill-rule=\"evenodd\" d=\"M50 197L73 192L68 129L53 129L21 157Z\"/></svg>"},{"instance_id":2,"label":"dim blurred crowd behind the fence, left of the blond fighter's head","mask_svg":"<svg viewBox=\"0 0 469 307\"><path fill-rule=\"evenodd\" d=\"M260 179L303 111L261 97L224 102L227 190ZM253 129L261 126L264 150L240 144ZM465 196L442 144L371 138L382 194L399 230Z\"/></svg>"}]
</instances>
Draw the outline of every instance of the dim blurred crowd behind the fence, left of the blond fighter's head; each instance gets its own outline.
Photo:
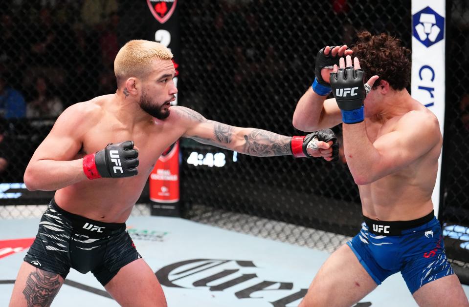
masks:
<instances>
[{"instance_id":1,"label":"dim blurred crowd behind the fence, left of the blond fighter's head","mask_svg":"<svg viewBox=\"0 0 469 307\"><path fill-rule=\"evenodd\" d=\"M15 0L0 14L0 115L56 118L114 91L117 0Z\"/></svg>"}]
</instances>

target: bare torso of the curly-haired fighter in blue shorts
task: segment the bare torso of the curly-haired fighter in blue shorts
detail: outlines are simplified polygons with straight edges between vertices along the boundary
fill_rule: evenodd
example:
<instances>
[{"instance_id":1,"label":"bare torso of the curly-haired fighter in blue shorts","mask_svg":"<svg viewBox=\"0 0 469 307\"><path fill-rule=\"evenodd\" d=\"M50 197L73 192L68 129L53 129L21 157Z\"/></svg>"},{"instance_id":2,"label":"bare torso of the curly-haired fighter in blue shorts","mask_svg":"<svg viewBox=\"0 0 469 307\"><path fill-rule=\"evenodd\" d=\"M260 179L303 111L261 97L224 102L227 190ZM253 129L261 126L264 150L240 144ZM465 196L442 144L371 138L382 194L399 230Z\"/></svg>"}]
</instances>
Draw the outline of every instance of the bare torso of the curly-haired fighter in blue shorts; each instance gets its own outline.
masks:
<instances>
[{"instance_id":1,"label":"bare torso of the curly-haired fighter in blue shorts","mask_svg":"<svg viewBox=\"0 0 469 307\"><path fill-rule=\"evenodd\" d=\"M415 109L430 112L420 104ZM370 141L374 143L380 136L392 132L401 118L394 117L384 123L366 118ZM431 212L431 195L443 142L441 134L435 137L439 137L437 145L416 161L371 184L358 185L363 215L381 221L408 221Z\"/></svg>"}]
</instances>

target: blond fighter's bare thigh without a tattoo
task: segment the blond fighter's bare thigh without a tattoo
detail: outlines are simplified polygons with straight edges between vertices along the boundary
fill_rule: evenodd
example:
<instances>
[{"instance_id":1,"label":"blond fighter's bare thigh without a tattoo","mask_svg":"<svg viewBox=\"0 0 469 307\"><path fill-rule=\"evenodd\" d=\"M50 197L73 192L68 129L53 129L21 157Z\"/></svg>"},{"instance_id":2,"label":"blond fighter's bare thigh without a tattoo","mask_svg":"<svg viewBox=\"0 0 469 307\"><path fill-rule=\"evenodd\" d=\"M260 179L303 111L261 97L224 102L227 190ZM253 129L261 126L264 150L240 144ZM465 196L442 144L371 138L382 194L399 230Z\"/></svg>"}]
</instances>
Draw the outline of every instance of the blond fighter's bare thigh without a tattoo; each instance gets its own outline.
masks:
<instances>
[{"instance_id":1,"label":"blond fighter's bare thigh without a tattoo","mask_svg":"<svg viewBox=\"0 0 469 307\"><path fill-rule=\"evenodd\" d=\"M123 266L105 288L123 307L167 306L155 273L141 258Z\"/></svg>"}]
</instances>

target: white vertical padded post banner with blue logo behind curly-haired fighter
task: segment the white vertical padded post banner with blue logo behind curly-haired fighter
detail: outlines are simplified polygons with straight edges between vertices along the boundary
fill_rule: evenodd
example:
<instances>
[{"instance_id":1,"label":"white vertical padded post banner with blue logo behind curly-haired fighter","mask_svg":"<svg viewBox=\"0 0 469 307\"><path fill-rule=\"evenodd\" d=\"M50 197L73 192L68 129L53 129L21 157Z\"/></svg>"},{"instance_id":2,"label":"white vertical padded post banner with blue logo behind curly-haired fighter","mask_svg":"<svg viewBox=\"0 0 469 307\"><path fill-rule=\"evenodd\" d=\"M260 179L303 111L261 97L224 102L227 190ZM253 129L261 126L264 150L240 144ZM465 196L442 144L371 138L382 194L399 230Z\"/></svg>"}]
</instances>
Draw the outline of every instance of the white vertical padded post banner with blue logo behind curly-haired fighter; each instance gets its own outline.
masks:
<instances>
[{"instance_id":1,"label":"white vertical padded post banner with blue logo behind curly-haired fighter","mask_svg":"<svg viewBox=\"0 0 469 307\"><path fill-rule=\"evenodd\" d=\"M411 95L445 123L446 0L412 0ZM435 215L440 205L441 155L432 194Z\"/></svg>"}]
</instances>

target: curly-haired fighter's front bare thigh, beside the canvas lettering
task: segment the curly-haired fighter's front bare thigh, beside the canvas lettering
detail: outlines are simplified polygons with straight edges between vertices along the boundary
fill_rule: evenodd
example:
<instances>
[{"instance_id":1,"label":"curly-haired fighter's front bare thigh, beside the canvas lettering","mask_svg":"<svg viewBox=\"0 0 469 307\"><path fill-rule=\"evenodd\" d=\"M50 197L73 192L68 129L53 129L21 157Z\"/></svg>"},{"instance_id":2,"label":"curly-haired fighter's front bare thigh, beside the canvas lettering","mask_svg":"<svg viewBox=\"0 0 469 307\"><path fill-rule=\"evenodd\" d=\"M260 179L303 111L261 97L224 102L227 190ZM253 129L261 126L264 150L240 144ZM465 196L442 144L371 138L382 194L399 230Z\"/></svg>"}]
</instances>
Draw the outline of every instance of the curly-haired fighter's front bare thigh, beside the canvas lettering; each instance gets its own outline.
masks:
<instances>
[{"instance_id":1,"label":"curly-haired fighter's front bare thigh, beside the canvas lettering","mask_svg":"<svg viewBox=\"0 0 469 307\"><path fill-rule=\"evenodd\" d=\"M298 307L350 307L376 287L354 252L344 245L321 266Z\"/></svg>"}]
</instances>

